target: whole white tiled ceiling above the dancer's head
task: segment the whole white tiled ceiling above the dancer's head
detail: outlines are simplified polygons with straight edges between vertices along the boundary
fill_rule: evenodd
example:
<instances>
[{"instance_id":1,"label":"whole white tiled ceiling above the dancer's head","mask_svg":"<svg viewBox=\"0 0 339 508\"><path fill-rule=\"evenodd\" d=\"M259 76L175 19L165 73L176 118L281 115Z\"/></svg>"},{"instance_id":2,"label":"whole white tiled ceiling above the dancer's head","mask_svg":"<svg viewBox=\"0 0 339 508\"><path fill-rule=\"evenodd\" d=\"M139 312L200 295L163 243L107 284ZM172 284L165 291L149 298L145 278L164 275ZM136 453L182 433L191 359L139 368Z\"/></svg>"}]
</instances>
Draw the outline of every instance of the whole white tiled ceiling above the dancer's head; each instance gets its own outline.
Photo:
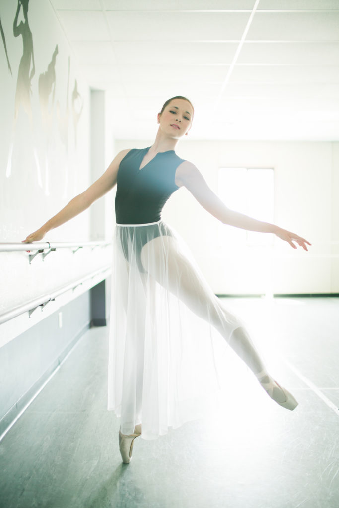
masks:
<instances>
[{"instance_id":1,"label":"whole white tiled ceiling above the dancer's head","mask_svg":"<svg viewBox=\"0 0 339 508\"><path fill-rule=\"evenodd\" d=\"M193 139L339 140L339 0L50 2L116 139L183 95Z\"/></svg>"}]
</instances>

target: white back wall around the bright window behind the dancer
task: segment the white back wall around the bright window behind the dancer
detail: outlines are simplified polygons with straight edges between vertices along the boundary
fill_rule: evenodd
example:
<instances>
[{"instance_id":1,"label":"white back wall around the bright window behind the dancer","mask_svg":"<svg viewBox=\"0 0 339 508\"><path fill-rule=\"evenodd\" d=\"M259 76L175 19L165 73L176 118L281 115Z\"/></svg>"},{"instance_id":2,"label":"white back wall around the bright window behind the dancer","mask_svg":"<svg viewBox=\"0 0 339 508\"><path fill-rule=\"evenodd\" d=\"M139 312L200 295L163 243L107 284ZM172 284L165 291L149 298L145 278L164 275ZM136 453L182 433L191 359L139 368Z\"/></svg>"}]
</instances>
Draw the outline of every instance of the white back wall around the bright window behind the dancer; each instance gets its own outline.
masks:
<instances>
[{"instance_id":1,"label":"white back wall around the bright window behind the dancer","mask_svg":"<svg viewBox=\"0 0 339 508\"><path fill-rule=\"evenodd\" d=\"M115 147L151 144L121 140ZM294 250L278 238L271 249L239 250L227 244L229 227L220 226L186 189L179 189L163 218L189 244L215 293L339 292L339 263L331 258L339 251L333 243L339 240L339 143L184 140L176 152L200 169L214 192L220 167L274 168L275 223L312 243L309 252Z\"/></svg>"}]
</instances>

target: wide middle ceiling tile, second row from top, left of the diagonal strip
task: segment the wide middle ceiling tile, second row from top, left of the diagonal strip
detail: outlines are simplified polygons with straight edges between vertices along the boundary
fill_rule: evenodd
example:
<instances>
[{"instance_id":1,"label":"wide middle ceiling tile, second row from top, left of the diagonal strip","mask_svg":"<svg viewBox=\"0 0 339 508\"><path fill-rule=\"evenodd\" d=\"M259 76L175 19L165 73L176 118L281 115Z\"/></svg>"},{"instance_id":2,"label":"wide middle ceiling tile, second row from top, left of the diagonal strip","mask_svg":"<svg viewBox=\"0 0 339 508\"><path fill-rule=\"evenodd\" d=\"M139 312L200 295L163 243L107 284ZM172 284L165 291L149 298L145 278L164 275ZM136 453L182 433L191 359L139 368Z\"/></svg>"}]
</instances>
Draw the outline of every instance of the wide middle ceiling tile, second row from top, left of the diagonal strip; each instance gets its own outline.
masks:
<instances>
[{"instance_id":1,"label":"wide middle ceiling tile, second row from top, left of the diagonal strip","mask_svg":"<svg viewBox=\"0 0 339 508\"><path fill-rule=\"evenodd\" d=\"M247 13L107 12L114 41L239 40Z\"/></svg>"}]
</instances>

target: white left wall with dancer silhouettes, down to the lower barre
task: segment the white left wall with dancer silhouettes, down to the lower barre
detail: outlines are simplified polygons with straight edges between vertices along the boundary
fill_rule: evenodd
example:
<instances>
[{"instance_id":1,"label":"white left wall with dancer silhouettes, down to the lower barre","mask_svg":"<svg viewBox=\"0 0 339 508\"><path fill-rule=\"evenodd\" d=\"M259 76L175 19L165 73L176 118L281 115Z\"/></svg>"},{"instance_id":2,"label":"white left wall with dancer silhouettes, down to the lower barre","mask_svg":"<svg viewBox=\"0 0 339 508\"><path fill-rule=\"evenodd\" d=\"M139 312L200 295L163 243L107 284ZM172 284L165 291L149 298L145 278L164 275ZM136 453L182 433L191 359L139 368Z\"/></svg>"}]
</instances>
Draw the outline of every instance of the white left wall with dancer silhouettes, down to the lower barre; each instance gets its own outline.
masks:
<instances>
[{"instance_id":1,"label":"white left wall with dancer silhouettes, down to the lower barre","mask_svg":"<svg viewBox=\"0 0 339 508\"><path fill-rule=\"evenodd\" d=\"M0 6L11 67L0 38L0 242L23 240L92 181L88 85L50 3L31 0L27 15L21 6L15 22L18 5ZM14 23L19 31L25 28L24 37L15 37ZM87 210L45 240L97 237ZM61 249L29 265L23 251L0 252L0 313L81 278L109 258L104 249L74 255Z\"/></svg>"}]
</instances>

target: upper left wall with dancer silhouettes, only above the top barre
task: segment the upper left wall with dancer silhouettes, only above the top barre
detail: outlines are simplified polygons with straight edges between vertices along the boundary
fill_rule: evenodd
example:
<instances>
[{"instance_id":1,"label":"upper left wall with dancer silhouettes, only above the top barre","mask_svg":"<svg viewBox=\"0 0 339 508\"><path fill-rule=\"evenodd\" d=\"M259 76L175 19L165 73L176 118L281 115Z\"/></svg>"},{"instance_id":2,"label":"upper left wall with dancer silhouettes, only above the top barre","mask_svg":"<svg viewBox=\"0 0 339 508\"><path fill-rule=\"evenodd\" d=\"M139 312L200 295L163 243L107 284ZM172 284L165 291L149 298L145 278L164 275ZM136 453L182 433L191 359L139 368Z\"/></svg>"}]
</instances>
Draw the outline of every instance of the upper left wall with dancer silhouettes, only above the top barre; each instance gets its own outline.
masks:
<instances>
[{"instance_id":1,"label":"upper left wall with dancer silhouettes, only above the top barre","mask_svg":"<svg viewBox=\"0 0 339 508\"><path fill-rule=\"evenodd\" d=\"M28 61L25 77L23 37L13 34L16 9L17 2L4 2L0 11L12 69L11 75L2 46L1 241L25 238L89 182L88 86L50 3L43 0L29 2L30 51L35 63L29 83L33 58ZM22 7L18 23L20 20L25 22ZM24 45L29 51L29 44ZM51 236L53 240L69 240L75 234L79 239L88 237L86 215L54 230Z\"/></svg>"}]
</instances>

